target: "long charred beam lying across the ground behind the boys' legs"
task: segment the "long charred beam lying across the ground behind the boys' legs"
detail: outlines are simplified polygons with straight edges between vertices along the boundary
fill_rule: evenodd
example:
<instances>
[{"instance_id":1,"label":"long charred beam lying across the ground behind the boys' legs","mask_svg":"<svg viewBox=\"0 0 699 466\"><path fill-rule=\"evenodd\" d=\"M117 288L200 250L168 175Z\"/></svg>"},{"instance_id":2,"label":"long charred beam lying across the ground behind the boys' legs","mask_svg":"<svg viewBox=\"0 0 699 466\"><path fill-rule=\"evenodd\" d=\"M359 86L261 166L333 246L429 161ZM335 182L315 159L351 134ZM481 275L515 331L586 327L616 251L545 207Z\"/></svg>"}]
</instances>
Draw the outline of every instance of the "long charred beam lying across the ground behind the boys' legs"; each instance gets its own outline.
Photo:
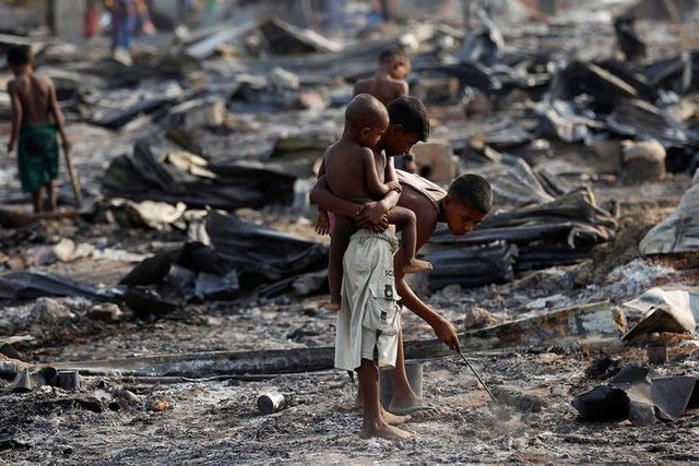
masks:
<instances>
[{"instance_id":1,"label":"long charred beam lying across the ground behind the boys' legs","mask_svg":"<svg viewBox=\"0 0 699 466\"><path fill-rule=\"evenodd\" d=\"M562 309L459 334L464 350L508 347L584 345L587 340L618 339L612 304L597 302ZM438 339L405 342L408 359L448 356L451 350ZM331 369L334 348L294 348L254 351L202 351L156 355L51 365L55 369L79 370L83 374L132 377L189 377L214 374L273 374Z\"/></svg>"}]
</instances>

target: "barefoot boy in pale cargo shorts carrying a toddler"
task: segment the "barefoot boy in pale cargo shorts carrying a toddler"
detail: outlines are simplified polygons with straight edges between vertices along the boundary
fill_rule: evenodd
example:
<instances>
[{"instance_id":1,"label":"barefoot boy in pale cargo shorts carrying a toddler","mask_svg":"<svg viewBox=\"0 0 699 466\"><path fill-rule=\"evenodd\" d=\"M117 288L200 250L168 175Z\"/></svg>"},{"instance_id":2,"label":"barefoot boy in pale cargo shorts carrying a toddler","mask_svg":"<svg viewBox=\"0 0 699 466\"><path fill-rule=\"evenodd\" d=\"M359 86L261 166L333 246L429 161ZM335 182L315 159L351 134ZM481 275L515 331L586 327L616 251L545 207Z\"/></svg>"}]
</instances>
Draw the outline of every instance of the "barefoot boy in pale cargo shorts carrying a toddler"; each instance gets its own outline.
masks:
<instances>
[{"instance_id":1,"label":"barefoot boy in pale cargo shorts carrying a toddler","mask_svg":"<svg viewBox=\"0 0 699 466\"><path fill-rule=\"evenodd\" d=\"M429 120L425 107L419 100L411 97L396 99L389 105L388 115L389 126L372 147L374 157L380 157L382 152L388 157L403 154L410 151L417 141L427 139ZM322 176L318 182L325 190L331 169L332 167L329 165L328 175ZM317 192L316 188L313 192ZM364 202L366 199L370 200L370 196L354 202L342 200L330 193L329 190L327 192L331 199L337 200L340 208L346 217L353 217L363 203L366 205L378 204L375 201ZM390 192L398 194L395 190ZM351 195L351 198L356 196ZM391 194L389 193L384 199L391 200ZM311 198L311 201L315 199ZM383 204L387 204L384 201L380 203L382 206L372 210L372 212L378 213L383 208ZM346 208L347 205L357 208L352 211ZM332 206L332 202L325 206ZM388 225L386 222L387 212L390 212L390 208L372 219L376 220L375 223L381 224L383 228ZM383 411L379 404L378 392L377 363L384 367L394 366L401 351L400 315L396 306L399 296L395 292L393 273L395 244L395 238L392 235L375 232L374 229L360 229L352 236L344 254L342 309L337 314L335 367L357 371L359 392L364 399L362 435L365 438L400 439L410 435L410 433L394 427L406 418ZM403 262L404 256L401 259L401 264Z\"/></svg>"}]
</instances>

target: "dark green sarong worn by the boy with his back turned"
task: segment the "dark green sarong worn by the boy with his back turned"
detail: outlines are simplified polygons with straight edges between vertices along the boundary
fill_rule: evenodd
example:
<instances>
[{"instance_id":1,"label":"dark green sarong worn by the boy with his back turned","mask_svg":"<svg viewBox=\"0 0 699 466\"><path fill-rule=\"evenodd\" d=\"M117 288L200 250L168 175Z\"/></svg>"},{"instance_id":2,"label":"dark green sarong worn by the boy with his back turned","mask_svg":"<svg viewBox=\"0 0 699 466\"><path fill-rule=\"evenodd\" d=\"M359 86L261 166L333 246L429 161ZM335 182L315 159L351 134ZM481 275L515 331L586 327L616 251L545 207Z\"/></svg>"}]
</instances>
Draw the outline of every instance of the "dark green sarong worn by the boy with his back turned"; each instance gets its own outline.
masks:
<instances>
[{"instance_id":1,"label":"dark green sarong worn by the boy with his back turned","mask_svg":"<svg viewBox=\"0 0 699 466\"><path fill-rule=\"evenodd\" d=\"M56 124L23 127L17 141L17 165L22 191L34 192L58 175Z\"/></svg>"}]
</instances>

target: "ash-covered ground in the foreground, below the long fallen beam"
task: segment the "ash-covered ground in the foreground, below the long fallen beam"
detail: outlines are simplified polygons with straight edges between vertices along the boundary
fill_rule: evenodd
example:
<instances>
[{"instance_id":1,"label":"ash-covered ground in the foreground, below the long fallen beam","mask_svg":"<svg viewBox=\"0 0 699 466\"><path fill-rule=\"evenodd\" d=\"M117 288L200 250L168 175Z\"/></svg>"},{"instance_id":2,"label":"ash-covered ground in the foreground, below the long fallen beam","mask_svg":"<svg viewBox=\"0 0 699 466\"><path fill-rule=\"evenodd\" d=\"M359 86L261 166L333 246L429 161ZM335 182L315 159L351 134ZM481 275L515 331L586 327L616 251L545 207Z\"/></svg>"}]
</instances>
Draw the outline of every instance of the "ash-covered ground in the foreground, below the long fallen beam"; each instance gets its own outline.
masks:
<instances>
[{"instance_id":1,"label":"ash-covered ground in the foreground, below the long fallen beam","mask_svg":"<svg viewBox=\"0 0 699 466\"><path fill-rule=\"evenodd\" d=\"M615 353L618 363L643 351ZM500 420L487 395L455 358L424 362L424 390L445 414L412 421L415 438L362 440L360 417L339 409L354 386L342 373L294 374L259 382L198 382L144 386L87 379L82 393L99 396L129 389L139 397L119 411L93 413L86 403L61 403L59 389L10 394L3 387L3 434L13 445L8 464L464 464L464 463L675 463L696 462L699 418L636 428L628 422L577 419L571 396L599 381L584 377L594 354L549 350L473 356L490 384L544 397L542 413L512 410ZM696 361L673 361L692 372ZM259 393L279 389L291 407L261 416ZM165 410L158 410L165 409ZM3 435L3 437L4 437ZM3 445L7 449L7 445Z\"/></svg>"}]
</instances>

